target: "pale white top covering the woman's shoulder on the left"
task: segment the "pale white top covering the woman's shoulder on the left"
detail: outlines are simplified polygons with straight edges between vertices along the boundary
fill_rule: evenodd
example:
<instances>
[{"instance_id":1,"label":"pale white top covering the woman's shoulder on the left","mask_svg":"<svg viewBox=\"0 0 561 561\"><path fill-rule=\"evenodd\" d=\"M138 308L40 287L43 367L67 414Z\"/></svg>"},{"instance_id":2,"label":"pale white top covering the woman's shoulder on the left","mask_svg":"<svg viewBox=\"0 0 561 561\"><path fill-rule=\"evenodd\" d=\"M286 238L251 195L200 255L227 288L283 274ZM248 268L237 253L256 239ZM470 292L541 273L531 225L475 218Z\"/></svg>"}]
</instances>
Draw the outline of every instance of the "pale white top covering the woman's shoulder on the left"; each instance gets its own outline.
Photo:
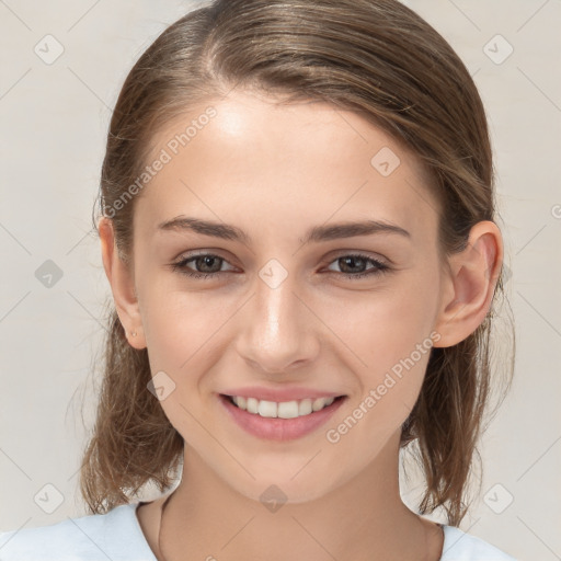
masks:
<instances>
[{"instance_id":1,"label":"pale white top covering the woman's shoulder on the left","mask_svg":"<svg viewBox=\"0 0 561 561\"><path fill-rule=\"evenodd\" d=\"M137 503L0 534L1 561L156 561L136 517Z\"/></svg>"}]
</instances>

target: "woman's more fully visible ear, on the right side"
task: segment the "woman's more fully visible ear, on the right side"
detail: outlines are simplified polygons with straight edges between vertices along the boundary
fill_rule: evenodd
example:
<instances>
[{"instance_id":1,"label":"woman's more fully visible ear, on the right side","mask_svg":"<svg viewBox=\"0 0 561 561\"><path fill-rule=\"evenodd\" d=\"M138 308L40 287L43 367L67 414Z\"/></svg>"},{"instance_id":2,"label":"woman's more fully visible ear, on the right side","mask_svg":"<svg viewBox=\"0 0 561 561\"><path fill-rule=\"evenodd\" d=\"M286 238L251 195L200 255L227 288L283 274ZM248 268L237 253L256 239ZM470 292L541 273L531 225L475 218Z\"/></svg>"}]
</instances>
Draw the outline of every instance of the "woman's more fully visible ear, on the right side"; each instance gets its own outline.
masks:
<instances>
[{"instance_id":1,"label":"woman's more fully visible ear, on the right side","mask_svg":"<svg viewBox=\"0 0 561 561\"><path fill-rule=\"evenodd\" d=\"M469 234L466 249L448 259L443 272L440 307L435 331L436 347L451 346L467 339L485 319L503 262L503 239L499 227L482 220Z\"/></svg>"}]
</instances>

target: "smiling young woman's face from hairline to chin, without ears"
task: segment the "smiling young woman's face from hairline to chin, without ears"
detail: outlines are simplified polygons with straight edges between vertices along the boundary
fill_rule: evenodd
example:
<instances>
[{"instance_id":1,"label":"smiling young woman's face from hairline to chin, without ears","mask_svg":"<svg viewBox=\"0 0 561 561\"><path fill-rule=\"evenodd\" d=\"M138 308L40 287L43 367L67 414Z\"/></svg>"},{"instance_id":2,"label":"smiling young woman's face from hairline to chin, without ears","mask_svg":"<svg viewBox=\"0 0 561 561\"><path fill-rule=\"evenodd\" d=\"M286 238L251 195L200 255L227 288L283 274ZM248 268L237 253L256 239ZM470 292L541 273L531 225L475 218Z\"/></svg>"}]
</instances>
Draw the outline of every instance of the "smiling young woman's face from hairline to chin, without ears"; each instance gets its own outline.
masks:
<instances>
[{"instance_id":1,"label":"smiling young woman's face from hairline to chin, without ears","mask_svg":"<svg viewBox=\"0 0 561 561\"><path fill-rule=\"evenodd\" d=\"M438 204L419 162L356 114L274 101L232 93L158 135L134 283L186 455L247 496L275 484L301 502L388 460L415 403L438 341ZM347 228L369 221L391 229ZM345 398L298 419L232 414L220 394L248 388L304 412L307 396Z\"/></svg>"}]
</instances>

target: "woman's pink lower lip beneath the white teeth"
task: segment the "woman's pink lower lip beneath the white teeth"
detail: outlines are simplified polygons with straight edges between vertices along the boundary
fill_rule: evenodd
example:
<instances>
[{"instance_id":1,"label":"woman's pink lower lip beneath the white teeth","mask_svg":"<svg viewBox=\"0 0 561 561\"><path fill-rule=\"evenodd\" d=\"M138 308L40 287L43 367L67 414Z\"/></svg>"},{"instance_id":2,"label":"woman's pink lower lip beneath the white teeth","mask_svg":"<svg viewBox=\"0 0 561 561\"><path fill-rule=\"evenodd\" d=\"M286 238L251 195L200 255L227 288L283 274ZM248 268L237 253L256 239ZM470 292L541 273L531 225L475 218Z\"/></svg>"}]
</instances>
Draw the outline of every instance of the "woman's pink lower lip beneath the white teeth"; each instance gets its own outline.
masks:
<instances>
[{"instance_id":1,"label":"woman's pink lower lip beneath the white teeth","mask_svg":"<svg viewBox=\"0 0 561 561\"><path fill-rule=\"evenodd\" d=\"M218 397L228 413L241 428L254 436L268 440L294 440L316 431L335 413L346 399L346 397L336 399L331 405L320 411L314 411L309 415L295 419L275 419L248 413L243 409L236 407L229 398L221 394Z\"/></svg>"}]
</instances>

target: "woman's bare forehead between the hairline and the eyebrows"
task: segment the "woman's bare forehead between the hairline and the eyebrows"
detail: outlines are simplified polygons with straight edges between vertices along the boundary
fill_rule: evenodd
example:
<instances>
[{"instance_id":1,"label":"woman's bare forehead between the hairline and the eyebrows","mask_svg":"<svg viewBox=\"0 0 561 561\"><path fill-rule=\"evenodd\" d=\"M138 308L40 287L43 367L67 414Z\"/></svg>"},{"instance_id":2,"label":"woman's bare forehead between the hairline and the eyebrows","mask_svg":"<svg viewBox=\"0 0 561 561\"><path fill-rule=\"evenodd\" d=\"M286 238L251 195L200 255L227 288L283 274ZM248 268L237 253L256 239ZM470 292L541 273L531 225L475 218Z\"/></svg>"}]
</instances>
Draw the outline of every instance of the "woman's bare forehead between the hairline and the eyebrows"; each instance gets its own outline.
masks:
<instances>
[{"instance_id":1,"label":"woman's bare forehead between the hairline and the eyebrows","mask_svg":"<svg viewBox=\"0 0 561 561\"><path fill-rule=\"evenodd\" d=\"M414 234L436 221L419 159L327 103L231 93L174 119L152 147L148 164L164 163L138 201L148 227L187 214L248 228L283 224L299 234L300 222L304 231L330 219L377 218Z\"/></svg>"}]
</instances>

